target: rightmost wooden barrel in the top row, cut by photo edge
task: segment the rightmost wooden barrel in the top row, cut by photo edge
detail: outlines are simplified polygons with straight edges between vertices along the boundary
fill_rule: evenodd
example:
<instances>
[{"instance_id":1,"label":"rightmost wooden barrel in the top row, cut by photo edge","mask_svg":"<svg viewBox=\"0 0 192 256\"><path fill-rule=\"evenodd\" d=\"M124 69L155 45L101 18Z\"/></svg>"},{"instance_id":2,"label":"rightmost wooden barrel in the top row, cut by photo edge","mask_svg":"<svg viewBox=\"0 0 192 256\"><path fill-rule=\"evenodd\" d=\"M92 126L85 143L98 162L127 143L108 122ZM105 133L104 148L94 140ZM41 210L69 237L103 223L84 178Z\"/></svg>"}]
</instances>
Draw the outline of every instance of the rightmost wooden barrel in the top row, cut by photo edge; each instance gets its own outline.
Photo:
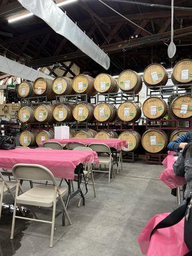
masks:
<instances>
[{"instance_id":1,"label":"rightmost wooden barrel in the top row, cut by photo edge","mask_svg":"<svg viewBox=\"0 0 192 256\"><path fill-rule=\"evenodd\" d=\"M173 84L192 83L192 60L185 59L177 62L173 68L172 81Z\"/></svg>"}]
</instances>

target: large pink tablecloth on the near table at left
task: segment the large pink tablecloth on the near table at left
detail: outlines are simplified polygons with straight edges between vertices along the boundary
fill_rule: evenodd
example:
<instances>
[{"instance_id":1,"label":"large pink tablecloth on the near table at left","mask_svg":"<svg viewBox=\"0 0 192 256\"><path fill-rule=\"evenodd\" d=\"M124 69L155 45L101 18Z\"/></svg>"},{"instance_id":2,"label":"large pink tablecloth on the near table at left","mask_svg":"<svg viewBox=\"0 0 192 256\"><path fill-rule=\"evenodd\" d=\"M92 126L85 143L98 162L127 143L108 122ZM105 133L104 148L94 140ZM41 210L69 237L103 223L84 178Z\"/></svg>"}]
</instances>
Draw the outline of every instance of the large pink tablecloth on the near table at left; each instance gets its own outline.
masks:
<instances>
[{"instance_id":1,"label":"large pink tablecloth on the near table at left","mask_svg":"<svg viewBox=\"0 0 192 256\"><path fill-rule=\"evenodd\" d=\"M11 170L15 164L41 164L53 173L54 177L74 179L74 170L79 163L99 163L96 152L76 150L46 150L15 148L0 150L0 167Z\"/></svg>"}]
</instances>

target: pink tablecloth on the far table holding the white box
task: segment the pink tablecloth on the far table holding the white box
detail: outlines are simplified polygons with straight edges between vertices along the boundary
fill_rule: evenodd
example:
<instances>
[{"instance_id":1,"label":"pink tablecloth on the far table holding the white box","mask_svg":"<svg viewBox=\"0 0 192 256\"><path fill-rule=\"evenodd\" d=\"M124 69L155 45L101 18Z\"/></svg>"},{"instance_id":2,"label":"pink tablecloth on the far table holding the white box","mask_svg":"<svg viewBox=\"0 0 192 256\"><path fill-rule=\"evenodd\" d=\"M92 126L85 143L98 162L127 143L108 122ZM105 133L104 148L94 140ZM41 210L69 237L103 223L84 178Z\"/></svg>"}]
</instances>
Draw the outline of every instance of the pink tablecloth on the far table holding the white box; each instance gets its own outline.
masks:
<instances>
[{"instance_id":1,"label":"pink tablecloth on the far table holding the white box","mask_svg":"<svg viewBox=\"0 0 192 256\"><path fill-rule=\"evenodd\" d=\"M127 147L127 142L125 140L119 140L119 139L101 140L96 138L90 138L90 139L71 138L71 139L63 139L63 140L51 139L51 140L45 140L45 141L57 141L61 144L77 142L77 143L83 143L84 145L89 145L92 143L104 143L108 145L110 148L115 148L116 150L120 150L122 147ZM44 143L45 141L42 141L42 143Z\"/></svg>"}]
</instances>

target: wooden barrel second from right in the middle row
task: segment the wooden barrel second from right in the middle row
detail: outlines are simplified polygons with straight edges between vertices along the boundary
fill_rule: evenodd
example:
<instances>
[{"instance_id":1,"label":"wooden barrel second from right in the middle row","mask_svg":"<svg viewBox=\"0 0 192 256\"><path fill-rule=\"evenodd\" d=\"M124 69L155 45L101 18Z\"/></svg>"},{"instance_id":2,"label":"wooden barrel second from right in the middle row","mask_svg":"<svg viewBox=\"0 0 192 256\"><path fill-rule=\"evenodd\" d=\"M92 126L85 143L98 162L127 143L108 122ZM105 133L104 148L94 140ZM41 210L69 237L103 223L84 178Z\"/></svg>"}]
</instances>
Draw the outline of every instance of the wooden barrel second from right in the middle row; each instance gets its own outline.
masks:
<instances>
[{"instance_id":1,"label":"wooden barrel second from right in the middle row","mask_svg":"<svg viewBox=\"0 0 192 256\"><path fill-rule=\"evenodd\" d=\"M163 99L150 97L143 102L142 111L149 119L163 118L168 113L168 106Z\"/></svg>"}]
</instances>

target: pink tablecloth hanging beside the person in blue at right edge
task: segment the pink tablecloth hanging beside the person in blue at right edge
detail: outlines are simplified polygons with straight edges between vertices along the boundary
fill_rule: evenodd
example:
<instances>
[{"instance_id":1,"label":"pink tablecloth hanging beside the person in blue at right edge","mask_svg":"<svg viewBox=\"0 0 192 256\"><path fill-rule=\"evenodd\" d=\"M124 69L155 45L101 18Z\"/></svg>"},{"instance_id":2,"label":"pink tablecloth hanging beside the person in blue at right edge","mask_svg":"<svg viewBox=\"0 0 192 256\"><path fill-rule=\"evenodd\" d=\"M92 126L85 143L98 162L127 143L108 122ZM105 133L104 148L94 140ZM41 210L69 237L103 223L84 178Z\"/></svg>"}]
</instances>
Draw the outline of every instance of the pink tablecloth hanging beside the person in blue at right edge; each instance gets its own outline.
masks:
<instances>
[{"instance_id":1,"label":"pink tablecloth hanging beside the person in blue at right edge","mask_svg":"<svg viewBox=\"0 0 192 256\"><path fill-rule=\"evenodd\" d=\"M159 179L170 189L186 184L184 177L176 176L173 172L173 163L175 163L175 161L176 159L173 155L167 156L163 161L163 165L166 169L164 169L164 171L159 175Z\"/></svg>"}]
</instances>

